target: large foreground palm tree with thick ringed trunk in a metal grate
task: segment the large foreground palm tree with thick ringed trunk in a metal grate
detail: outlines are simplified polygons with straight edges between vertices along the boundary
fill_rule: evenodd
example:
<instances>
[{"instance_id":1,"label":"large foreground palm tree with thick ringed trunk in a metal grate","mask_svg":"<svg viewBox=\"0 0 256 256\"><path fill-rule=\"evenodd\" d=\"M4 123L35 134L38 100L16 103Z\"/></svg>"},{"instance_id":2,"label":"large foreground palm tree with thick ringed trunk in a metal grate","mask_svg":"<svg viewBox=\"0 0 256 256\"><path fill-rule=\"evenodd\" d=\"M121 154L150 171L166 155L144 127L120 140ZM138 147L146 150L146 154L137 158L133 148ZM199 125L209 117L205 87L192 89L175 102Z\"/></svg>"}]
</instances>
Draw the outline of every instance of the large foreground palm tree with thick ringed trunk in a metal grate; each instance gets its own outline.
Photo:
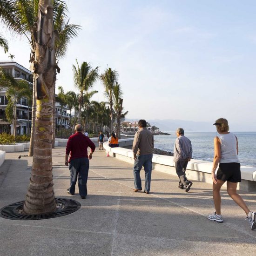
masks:
<instances>
[{"instance_id":1,"label":"large foreground palm tree with thick ringed trunk in a metal grate","mask_svg":"<svg viewBox=\"0 0 256 256\"><path fill-rule=\"evenodd\" d=\"M0 18L14 34L27 38L31 45L31 70L34 72L33 106L37 108L37 116L35 126L33 107L30 146L34 144L35 153L23 210L29 214L52 212L56 204L52 182L52 147L49 148L49 144L52 143L53 133L55 69L58 70L54 48L58 33L54 33L53 21L57 18L56 10L65 3L61 0L2 0L0 4L3 2L12 2L14 8L11 6L4 11L0 8Z\"/></svg>"}]
</instances>

